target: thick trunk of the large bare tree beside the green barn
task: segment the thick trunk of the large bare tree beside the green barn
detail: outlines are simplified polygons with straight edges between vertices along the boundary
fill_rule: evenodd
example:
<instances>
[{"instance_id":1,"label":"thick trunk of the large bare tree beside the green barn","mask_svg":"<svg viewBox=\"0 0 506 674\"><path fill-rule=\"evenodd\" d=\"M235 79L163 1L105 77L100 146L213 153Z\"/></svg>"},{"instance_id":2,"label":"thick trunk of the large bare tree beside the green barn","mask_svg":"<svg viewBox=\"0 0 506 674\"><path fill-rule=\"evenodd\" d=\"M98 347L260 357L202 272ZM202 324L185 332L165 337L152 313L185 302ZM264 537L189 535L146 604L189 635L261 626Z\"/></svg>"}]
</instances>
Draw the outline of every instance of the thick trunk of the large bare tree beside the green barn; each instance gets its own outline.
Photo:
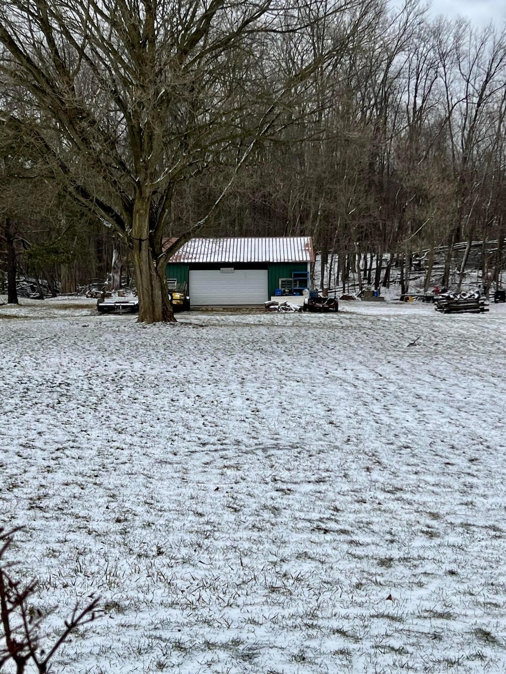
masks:
<instances>
[{"instance_id":1,"label":"thick trunk of the large bare tree beside the green barn","mask_svg":"<svg viewBox=\"0 0 506 674\"><path fill-rule=\"evenodd\" d=\"M138 197L134 204L132 261L139 298L140 323L175 323L165 280L165 261L152 255L149 240L148 199Z\"/></svg>"}]
</instances>

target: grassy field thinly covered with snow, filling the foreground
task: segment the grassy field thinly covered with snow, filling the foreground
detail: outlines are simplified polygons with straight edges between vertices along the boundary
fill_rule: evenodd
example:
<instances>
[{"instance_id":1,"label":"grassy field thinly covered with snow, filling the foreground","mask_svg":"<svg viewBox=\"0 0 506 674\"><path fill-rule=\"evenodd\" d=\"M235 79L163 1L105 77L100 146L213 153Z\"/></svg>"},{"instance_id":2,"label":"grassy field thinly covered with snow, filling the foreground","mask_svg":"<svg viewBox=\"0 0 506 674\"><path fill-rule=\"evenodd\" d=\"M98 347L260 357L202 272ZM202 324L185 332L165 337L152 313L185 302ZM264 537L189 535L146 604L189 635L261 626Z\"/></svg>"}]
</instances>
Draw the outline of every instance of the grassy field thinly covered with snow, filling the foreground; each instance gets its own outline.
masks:
<instances>
[{"instance_id":1,"label":"grassy field thinly covered with snow, filling the foreground","mask_svg":"<svg viewBox=\"0 0 506 674\"><path fill-rule=\"evenodd\" d=\"M506 305L341 304L0 307L18 573L101 595L55 671L505 671Z\"/></svg>"}]
</instances>

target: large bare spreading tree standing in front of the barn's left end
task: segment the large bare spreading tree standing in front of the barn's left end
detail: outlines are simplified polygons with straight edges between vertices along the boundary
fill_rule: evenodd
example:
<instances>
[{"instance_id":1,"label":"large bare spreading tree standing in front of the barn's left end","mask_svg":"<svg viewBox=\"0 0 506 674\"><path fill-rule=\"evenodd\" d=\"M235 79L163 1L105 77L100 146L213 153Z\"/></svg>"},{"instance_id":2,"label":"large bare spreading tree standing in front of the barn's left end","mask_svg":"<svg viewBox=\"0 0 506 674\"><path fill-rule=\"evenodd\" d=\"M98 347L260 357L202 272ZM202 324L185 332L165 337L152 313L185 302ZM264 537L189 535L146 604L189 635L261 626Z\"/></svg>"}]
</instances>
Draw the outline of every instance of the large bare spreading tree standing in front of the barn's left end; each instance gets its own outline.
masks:
<instances>
[{"instance_id":1,"label":"large bare spreading tree standing in front of the barn's left end","mask_svg":"<svg viewBox=\"0 0 506 674\"><path fill-rule=\"evenodd\" d=\"M140 321L173 320L169 255L207 222L258 140L278 122L286 125L280 118L308 76L343 49L347 36L328 30L314 55L304 48L308 26L354 8L364 16L364 4L2 3L9 118L30 134L67 191L130 246ZM300 46L281 74L280 35L298 36ZM163 251L177 186L224 163L229 178L208 212Z\"/></svg>"}]
</instances>

